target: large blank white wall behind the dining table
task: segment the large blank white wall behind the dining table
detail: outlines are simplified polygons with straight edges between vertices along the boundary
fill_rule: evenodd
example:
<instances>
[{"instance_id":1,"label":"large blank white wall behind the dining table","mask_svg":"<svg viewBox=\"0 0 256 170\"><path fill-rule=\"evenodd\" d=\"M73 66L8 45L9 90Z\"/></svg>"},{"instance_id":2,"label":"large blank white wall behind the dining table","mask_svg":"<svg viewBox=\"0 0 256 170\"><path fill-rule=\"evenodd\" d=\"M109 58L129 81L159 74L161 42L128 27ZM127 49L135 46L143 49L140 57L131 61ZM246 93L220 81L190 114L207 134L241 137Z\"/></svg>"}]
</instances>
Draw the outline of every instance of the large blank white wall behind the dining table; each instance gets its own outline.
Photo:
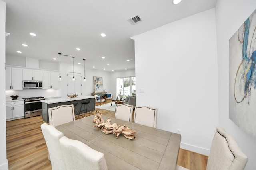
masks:
<instances>
[{"instance_id":1,"label":"large blank white wall behind the dining table","mask_svg":"<svg viewBox=\"0 0 256 170\"><path fill-rule=\"evenodd\" d=\"M208 155L218 125L215 10L132 39L136 105L158 108L157 128L180 129L181 148Z\"/></svg>"}]
</instances>

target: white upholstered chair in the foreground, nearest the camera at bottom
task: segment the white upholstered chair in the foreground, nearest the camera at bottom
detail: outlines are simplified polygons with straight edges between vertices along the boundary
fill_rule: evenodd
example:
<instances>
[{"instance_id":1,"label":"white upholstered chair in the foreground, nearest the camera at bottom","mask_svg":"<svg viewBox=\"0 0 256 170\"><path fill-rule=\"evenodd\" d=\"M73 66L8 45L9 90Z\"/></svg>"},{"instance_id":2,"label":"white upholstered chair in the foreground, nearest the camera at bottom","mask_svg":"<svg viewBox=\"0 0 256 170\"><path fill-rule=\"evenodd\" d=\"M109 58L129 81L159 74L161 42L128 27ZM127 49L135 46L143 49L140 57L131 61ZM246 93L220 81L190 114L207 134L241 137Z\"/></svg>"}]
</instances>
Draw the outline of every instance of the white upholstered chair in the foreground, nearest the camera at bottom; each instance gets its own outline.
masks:
<instances>
[{"instance_id":1,"label":"white upholstered chair in the foreground, nearest the camera at bottom","mask_svg":"<svg viewBox=\"0 0 256 170\"><path fill-rule=\"evenodd\" d=\"M60 147L68 170L107 170L104 154L81 141L62 137Z\"/></svg>"}]
</instances>

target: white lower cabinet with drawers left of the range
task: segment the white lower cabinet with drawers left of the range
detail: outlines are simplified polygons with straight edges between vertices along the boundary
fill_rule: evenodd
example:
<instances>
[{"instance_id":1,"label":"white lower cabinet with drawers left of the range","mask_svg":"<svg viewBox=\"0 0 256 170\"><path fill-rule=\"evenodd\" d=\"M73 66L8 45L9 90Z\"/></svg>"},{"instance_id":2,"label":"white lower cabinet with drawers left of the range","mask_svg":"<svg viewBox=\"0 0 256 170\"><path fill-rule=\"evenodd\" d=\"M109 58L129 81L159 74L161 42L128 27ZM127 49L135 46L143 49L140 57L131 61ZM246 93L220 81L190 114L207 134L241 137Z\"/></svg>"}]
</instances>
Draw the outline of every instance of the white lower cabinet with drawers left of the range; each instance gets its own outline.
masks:
<instances>
[{"instance_id":1,"label":"white lower cabinet with drawers left of the range","mask_svg":"<svg viewBox=\"0 0 256 170\"><path fill-rule=\"evenodd\" d=\"M24 117L24 101L6 102L6 120Z\"/></svg>"}]
</instances>

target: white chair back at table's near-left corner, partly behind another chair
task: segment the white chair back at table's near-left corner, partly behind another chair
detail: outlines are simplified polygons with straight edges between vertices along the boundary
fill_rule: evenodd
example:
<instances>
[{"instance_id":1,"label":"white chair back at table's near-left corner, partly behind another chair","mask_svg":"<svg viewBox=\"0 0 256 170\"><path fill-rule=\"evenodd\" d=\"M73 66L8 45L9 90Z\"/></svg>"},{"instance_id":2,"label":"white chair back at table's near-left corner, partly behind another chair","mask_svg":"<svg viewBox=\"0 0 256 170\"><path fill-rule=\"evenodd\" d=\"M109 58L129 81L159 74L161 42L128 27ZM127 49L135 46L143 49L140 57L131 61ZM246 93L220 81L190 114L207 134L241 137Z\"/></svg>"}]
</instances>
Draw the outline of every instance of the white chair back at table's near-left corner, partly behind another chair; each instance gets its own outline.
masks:
<instances>
[{"instance_id":1,"label":"white chair back at table's near-left corner, partly behind another chair","mask_svg":"<svg viewBox=\"0 0 256 170\"><path fill-rule=\"evenodd\" d=\"M43 123L41 129L49 152L52 170L66 170L67 168L59 141L59 139L64 136L63 133L47 123Z\"/></svg>"}]
</instances>

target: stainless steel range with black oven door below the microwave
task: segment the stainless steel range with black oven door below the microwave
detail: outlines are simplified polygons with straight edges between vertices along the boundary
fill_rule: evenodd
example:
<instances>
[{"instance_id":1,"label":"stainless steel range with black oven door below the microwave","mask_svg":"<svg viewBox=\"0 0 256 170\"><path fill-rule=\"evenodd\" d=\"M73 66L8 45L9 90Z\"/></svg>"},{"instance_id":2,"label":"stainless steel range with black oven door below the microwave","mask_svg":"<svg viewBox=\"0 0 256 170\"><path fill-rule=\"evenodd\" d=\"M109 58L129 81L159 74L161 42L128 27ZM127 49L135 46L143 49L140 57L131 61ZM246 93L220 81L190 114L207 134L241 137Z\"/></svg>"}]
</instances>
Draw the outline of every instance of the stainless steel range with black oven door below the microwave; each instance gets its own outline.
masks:
<instances>
[{"instance_id":1,"label":"stainless steel range with black oven door below the microwave","mask_svg":"<svg viewBox=\"0 0 256 170\"><path fill-rule=\"evenodd\" d=\"M23 98L25 100L25 118L42 115L42 102L44 97Z\"/></svg>"}]
</instances>

